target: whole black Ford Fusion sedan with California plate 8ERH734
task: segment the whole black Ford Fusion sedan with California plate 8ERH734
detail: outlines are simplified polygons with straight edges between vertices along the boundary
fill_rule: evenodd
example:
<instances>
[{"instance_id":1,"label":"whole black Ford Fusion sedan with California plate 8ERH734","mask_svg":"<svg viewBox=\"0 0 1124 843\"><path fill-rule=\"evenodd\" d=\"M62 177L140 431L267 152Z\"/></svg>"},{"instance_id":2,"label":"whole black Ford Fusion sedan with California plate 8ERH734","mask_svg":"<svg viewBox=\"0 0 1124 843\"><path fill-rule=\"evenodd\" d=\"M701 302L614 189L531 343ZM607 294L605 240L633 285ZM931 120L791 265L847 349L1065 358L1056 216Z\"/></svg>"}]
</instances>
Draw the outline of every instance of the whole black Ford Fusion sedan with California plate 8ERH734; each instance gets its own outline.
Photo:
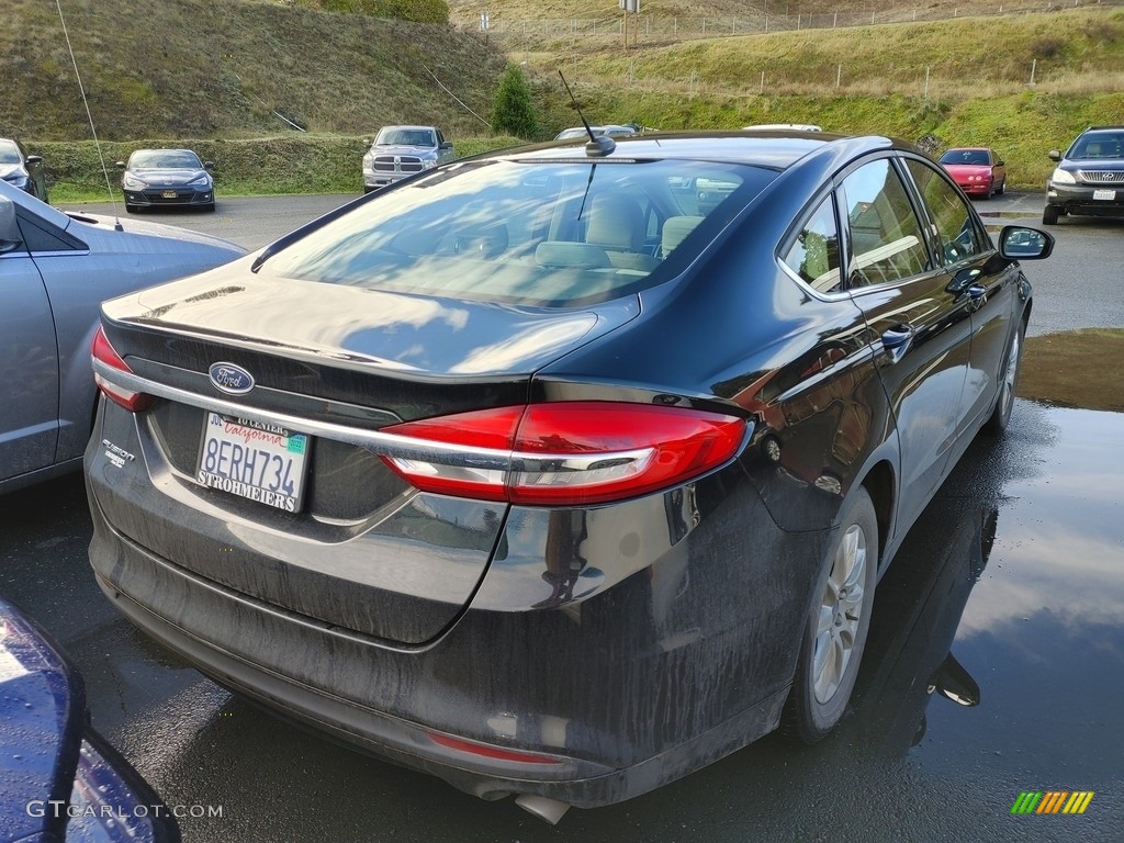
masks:
<instances>
[{"instance_id":1,"label":"whole black Ford Fusion sedan with California plate 8ERH734","mask_svg":"<svg viewBox=\"0 0 1124 843\"><path fill-rule=\"evenodd\" d=\"M439 166L103 305L98 581L223 685L552 822L816 741L1007 424L1052 244L881 137Z\"/></svg>"}]
</instances>

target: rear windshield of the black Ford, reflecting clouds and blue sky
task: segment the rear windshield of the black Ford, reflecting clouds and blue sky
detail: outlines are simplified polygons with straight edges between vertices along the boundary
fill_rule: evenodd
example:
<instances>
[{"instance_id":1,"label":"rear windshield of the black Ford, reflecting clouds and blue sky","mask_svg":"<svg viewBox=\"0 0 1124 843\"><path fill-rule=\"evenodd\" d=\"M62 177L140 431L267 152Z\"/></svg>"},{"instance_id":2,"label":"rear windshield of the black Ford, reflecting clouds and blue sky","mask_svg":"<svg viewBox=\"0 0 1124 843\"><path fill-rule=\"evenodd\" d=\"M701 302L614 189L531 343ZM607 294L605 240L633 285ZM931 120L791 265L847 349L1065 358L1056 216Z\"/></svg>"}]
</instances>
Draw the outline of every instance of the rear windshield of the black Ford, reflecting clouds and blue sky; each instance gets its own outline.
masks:
<instances>
[{"instance_id":1,"label":"rear windshield of the black Ford, reflecting clouds and blue sky","mask_svg":"<svg viewBox=\"0 0 1124 843\"><path fill-rule=\"evenodd\" d=\"M375 290L586 305L681 271L773 178L697 161L462 162L375 194L269 269Z\"/></svg>"}]
</instances>

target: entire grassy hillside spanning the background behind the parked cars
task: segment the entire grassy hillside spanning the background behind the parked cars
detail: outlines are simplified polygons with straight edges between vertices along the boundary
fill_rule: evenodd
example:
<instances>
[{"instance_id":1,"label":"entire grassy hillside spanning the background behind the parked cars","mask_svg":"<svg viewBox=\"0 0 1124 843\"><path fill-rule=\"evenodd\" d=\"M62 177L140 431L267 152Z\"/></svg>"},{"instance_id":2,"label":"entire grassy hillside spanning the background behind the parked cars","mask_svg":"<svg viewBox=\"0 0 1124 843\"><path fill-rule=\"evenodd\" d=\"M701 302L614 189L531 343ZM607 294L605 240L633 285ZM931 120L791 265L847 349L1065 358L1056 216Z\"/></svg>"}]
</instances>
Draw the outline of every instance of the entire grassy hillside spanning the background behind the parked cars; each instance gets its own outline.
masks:
<instances>
[{"instance_id":1,"label":"entire grassy hillside spanning the background behind the parked cars","mask_svg":"<svg viewBox=\"0 0 1124 843\"><path fill-rule=\"evenodd\" d=\"M64 9L99 135L119 144L110 160L142 145L139 138L228 144L212 156L228 193L356 190L361 138L383 124L437 124L461 153L508 145L510 138L491 138L473 115L490 116L504 45L525 63L542 137L578 123L558 79L562 67L592 123L674 130L791 121L910 140L933 136L939 146L995 146L1007 157L1014 187L1040 187L1052 166L1048 149L1089 124L1124 123L1124 10L1106 3L963 19L973 2L874 3L887 16L949 13L946 7L961 16L941 22L641 44L627 52L611 34L531 45L264 0L67 0ZM481 8L466 0L448 6L454 22L474 21ZM606 12L605 0L488 3L493 21L596 10L616 17L609 6ZM764 6L644 0L643 9L645 16L747 15ZM837 3L768 3L770 15L822 13L831 6ZM39 145L89 138L54 4L6 0L6 9L0 76L19 83L0 99L0 135ZM290 133L274 112L308 135ZM288 139L250 143L282 133ZM246 143L232 145L236 140ZM100 179L89 172L96 167L84 146L74 154L65 144L47 146L56 196L81 193Z\"/></svg>"}]
</instances>

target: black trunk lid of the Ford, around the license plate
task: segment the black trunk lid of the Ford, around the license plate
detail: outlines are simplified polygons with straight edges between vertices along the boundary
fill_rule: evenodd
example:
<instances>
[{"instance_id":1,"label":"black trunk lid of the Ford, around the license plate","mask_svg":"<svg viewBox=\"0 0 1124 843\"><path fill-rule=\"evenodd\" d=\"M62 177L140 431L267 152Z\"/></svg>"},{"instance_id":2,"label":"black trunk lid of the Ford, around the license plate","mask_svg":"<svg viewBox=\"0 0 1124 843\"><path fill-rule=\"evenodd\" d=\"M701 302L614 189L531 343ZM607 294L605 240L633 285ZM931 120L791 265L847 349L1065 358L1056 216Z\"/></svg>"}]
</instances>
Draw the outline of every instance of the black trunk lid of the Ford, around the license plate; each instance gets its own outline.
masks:
<instances>
[{"instance_id":1,"label":"black trunk lid of the Ford, around the license plate","mask_svg":"<svg viewBox=\"0 0 1124 843\"><path fill-rule=\"evenodd\" d=\"M239 410L218 418L243 436L272 435L253 419L284 416L296 419L281 425L292 428L287 434L301 433L306 419L316 423L307 429L362 439L399 420L524 404L538 368L629 320L637 305L628 297L582 309L516 308L220 271L103 310L125 363L174 392L137 415L160 493L102 472L114 488L98 502L110 522L250 599L418 645L471 599L506 505L417 492L370 447L317 433L307 441L299 511L208 488L199 472L208 427L219 423L205 405L242 408L250 427ZM253 388L218 389L216 363L251 374ZM128 450L115 418L128 420L107 414L106 439Z\"/></svg>"}]
</instances>

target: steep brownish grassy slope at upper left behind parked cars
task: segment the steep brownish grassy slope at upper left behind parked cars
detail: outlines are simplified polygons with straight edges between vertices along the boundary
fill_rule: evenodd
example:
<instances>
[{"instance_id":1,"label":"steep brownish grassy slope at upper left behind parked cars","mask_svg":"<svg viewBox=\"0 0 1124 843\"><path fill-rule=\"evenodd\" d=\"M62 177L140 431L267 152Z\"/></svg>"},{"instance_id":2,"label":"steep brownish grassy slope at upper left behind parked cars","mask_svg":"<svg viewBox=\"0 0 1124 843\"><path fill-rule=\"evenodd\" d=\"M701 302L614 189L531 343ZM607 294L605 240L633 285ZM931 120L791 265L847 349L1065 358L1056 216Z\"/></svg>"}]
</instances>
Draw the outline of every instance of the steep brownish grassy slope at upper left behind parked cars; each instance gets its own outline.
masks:
<instances>
[{"instance_id":1,"label":"steep brownish grassy slope at upper left behind parked cars","mask_svg":"<svg viewBox=\"0 0 1124 843\"><path fill-rule=\"evenodd\" d=\"M506 60L445 25L244 0L67 0L70 39L99 135L250 137L285 124L361 134L435 121L488 134ZM89 137L53 2L4 0L0 135ZM432 71L436 75L430 75ZM437 80L451 93L443 90ZM462 107L454 99L466 103Z\"/></svg>"}]
</instances>

